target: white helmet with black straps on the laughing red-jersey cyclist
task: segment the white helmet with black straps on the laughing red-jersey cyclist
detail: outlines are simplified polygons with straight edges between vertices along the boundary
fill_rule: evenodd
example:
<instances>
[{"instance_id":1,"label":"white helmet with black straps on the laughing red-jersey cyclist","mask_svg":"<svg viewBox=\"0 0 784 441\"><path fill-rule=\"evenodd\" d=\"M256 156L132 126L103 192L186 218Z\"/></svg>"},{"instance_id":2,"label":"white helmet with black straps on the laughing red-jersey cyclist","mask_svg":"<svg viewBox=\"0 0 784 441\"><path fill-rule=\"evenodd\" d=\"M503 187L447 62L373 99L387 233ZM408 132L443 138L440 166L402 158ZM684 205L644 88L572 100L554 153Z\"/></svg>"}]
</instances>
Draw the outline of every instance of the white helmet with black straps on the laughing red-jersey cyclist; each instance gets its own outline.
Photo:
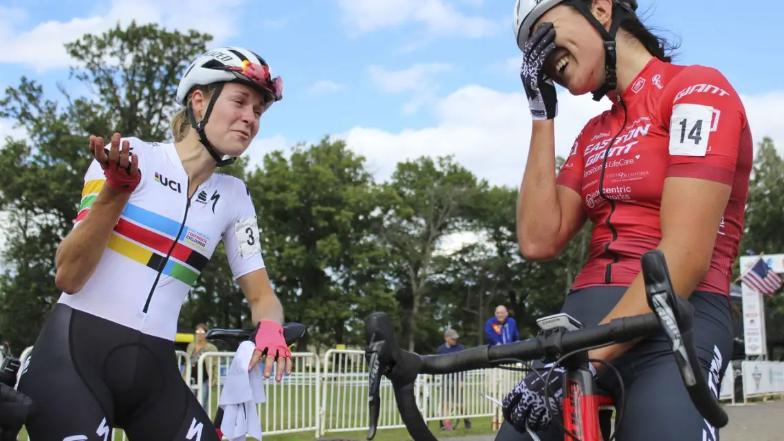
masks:
<instances>
[{"instance_id":1,"label":"white helmet with black straps on the laughing red-jersey cyclist","mask_svg":"<svg viewBox=\"0 0 784 441\"><path fill-rule=\"evenodd\" d=\"M514 38L517 39L517 47L520 50L525 49L525 43L528 42L528 38L533 33L533 26L536 20L539 20L544 13L561 3L568 3L568 5L573 6L582 13L586 20L599 31L599 35L604 40L604 84L593 92L593 100L601 100L601 97L604 97L606 93L617 86L615 33L618 32L618 28L623 20L634 16L634 11L637 9L637 0L612 1L612 24L610 24L609 31L604 29L604 26L590 12L590 2L584 0L517 0L514 5Z\"/></svg>"}]
</instances>

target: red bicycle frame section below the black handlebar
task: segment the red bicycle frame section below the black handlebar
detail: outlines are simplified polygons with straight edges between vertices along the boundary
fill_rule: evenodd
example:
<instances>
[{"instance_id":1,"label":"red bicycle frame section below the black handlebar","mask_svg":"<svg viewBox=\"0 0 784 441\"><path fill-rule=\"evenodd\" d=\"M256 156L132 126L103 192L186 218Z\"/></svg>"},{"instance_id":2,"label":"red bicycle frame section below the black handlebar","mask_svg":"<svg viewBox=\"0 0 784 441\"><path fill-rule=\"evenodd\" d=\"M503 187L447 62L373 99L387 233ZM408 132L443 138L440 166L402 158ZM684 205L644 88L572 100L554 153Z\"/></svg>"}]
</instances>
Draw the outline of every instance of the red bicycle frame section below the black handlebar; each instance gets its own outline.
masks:
<instances>
[{"instance_id":1,"label":"red bicycle frame section below the black handlebar","mask_svg":"<svg viewBox=\"0 0 784 441\"><path fill-rule=\"evenodd\" d=\"M589 370L568 370L565 380L563 415L567 432L564 433L564 440L608 439L615 399L597 387Z\"/></svg>"}]
</instances>

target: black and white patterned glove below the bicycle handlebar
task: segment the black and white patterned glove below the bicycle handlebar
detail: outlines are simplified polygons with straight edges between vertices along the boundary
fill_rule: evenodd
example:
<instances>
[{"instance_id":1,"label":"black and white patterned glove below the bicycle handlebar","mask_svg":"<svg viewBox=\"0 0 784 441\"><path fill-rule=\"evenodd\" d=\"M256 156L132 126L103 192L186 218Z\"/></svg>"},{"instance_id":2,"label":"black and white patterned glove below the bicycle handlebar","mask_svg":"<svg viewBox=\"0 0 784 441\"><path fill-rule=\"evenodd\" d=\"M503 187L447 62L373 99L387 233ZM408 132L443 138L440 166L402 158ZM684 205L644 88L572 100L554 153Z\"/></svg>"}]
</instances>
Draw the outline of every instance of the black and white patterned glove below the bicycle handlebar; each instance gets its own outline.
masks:
<instances>
[{"instance_id":1,"label":"black and white patterned glove below the bicycle handlebar","mask_svg":"<svg viewBox=\"0 0 784 441\"><path fill-rule=\"evenodd\" d=\"M525 433L526 426L532 431L550 426L556 411L561 410L564 398L564 368L557 366L550 374L550 385L545 395L544 379L552 363L539 369L539 375L528 373L503 399L503 417L517 430ZM596 370L590 366L591 373Z\"/></svg>"}]
</instances>

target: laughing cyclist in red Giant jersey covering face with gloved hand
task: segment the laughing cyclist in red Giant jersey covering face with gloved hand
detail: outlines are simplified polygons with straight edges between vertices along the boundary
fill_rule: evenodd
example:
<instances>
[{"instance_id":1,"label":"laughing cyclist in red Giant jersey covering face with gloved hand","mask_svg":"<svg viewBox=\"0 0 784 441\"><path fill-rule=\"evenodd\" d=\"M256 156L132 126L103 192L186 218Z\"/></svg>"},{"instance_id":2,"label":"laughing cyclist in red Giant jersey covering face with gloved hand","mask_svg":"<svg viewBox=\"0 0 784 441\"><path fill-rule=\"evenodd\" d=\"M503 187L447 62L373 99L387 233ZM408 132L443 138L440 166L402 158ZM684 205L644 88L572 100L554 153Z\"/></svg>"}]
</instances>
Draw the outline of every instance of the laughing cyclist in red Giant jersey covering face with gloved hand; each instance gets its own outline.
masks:
<instances>
[{"instance_id":1,"label":"laughing cyclist in red Giant jersey covering face with gloved hand","mask_svg":"<svg viewBox=\"0 0 784 441\"><path fill-rule=\"evenodd\" d=\"M664 253L677 293L695 308L695 344L715 392L731 356L728 301L753 161L738 93L711 67L673 64L668 46L636 15L635 0L517 0L514 30L533 124L517 205L521 252L556 257L590 219L590 254L563 312L586 326L650 312L640 258ZM560 171L554 155L557 92L608 97ZM601 388L623 398L619 441L718 439L681 383L663 335L594 349ZM564 439L561 376L528 374L506 396L496 440ZM623 390L621 394L621 390ZM622 395L622 397L621 397ZM554 399L555 397L555 399Z\"/></svg>"}]
</instances>

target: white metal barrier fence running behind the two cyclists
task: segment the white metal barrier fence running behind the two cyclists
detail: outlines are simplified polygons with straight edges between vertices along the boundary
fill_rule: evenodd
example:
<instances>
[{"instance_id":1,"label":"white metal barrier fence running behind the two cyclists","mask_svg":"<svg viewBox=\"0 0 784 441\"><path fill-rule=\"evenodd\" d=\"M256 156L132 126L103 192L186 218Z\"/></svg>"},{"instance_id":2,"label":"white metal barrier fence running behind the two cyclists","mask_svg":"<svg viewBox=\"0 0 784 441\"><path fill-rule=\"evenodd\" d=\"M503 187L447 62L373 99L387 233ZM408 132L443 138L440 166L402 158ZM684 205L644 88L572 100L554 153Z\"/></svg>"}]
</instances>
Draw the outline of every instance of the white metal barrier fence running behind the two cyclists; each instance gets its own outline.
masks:
<instances>
[{"instance_id":1,"label":"white metal barrier fence running behind the two cyclists","mask_svg":"<svg viewBox=\"0 0 784 441\"><path fill-rule=\"evenodd\" d=\"M32 347L25 348L22 366ZM207 352L196 363L196 381L191 381L191 359L176 351L183 379L191 384L198 401L208 414L215 415L218 397L234 352ZM263 432L274 435L314 432L315 438L327 433L366 431L368 429L368 366L364 352L331 349L324 362L310 352L292 354L292 374L281 383L265 381L267 402L257 406ZM784 363L744 361L740 370L728 366L721 381L719 398L735 403L735 377L742 377L744 402L755 397L784 395ZM517 365L519 367L521 365ZM509 367L509 366L507 366ZM21 370L20 370L21 375ZM502 417L499 406L488 395L503 399L523 373L515 370L472 370L451 375L422 375L415 385L416 403L426 421L464 421L492 417L498 427ZM402 428L390 381L381 382L379 429ZM20 438L22 440L24 438ZM113 441L125 441L122 431L115 431Z\"/></svg>"}]
</instances>

